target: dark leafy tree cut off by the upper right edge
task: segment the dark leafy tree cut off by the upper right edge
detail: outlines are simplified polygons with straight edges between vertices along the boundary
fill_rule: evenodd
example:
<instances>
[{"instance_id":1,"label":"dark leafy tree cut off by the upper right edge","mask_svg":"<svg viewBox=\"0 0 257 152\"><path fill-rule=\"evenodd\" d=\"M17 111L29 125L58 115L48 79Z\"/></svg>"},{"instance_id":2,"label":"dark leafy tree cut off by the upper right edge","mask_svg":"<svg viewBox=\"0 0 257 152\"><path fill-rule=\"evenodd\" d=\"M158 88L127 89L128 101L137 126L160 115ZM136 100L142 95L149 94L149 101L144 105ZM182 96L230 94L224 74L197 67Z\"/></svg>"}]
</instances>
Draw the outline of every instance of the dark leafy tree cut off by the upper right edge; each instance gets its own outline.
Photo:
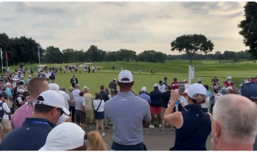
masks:
<instances>
[{"instance_id":1,"label":"dark leafy tree cut off by the upper right edge","mask_svg":"<svg viewBox=\"0 0 257 152\"><path fill-rule=\"evenodd\" d=\"M257 59L257 3L246 2L244 6L244 17L238 24L238 28L242 30L239 34L243 36L245 46L249 47L251 57Z\"/></svg>"}]
</instances>

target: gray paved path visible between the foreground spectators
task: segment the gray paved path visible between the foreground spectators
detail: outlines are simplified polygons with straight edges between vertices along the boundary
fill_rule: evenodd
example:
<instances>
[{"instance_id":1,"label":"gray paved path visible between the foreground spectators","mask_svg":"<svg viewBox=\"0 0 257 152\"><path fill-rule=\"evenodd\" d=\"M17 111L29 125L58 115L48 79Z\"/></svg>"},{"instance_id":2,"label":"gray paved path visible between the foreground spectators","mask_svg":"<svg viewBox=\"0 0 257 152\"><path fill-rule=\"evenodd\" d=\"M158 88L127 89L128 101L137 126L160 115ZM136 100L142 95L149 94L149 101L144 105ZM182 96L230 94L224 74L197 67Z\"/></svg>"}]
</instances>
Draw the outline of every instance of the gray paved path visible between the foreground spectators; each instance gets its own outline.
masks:
<instances>
[{"instance_id":1,"label":"gray paved path visible between the foreground spectators","mask_svg":"<svg viewBox=\"0 0 257 152\"><path fill-rule=\"evenodd\" d=\"M92 129L92 131L95 130L95 127ZM166 133L161 133L159 132L159 128L149 128L150 132L146 133L144 131L144 140L143 143L145 144L146 148L148 151L150 150L169 150L174 145L175 141L175 133L170 133L169 128L166 128ZM87 130L91 131L91 130ZM108 145L108 150L112 146L113 142L113 128L111 127L110 129L105 129L105 136L103 137L104 141ZM209 135L207 142L206 142L206 147L207 150L211 150L211 144L210 140L212 139L212 135ZM0 141L2 141L0 139ZM89 142L87 142L89 144Z\"/></svg>"}]
</instances>

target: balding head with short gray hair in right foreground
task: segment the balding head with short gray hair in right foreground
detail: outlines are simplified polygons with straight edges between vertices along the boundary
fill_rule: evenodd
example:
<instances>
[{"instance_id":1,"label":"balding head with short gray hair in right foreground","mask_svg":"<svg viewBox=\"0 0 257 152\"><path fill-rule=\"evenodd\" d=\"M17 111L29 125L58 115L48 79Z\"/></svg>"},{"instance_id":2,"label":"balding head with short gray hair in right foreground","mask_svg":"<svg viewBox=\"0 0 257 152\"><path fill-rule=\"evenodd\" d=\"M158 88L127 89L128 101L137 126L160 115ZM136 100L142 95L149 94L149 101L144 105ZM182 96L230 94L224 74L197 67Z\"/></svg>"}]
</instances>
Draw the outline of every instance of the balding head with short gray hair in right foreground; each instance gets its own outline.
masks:
<instances>
[{"instance_id":1,"label":"balding head with short gray hair in right foreground","mask_svg":"<svg viewBox=\"0 0 257 152\"><path fill-rule=\"evenodd\" d=\"M246 97L228 94L221 96L213 107L213 120L224 131L222 139L253 144L257 134L256 104Z\"/></svg>"}]
</instances>

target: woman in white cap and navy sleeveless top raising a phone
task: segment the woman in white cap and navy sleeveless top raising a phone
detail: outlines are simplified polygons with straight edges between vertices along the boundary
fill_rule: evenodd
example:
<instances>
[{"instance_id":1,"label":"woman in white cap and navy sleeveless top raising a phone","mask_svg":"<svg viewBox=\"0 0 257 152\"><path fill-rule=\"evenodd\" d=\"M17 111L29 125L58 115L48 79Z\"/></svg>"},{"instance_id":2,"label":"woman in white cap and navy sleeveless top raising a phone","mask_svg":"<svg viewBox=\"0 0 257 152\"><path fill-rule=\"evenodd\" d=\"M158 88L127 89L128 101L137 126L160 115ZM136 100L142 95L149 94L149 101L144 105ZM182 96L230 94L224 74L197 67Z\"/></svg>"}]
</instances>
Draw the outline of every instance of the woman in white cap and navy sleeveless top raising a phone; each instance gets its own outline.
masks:
<instances>
[{"instance_id":1,"label":"woman in white cap and navy sleeveless top raising a phone","mask_svg":"<svg viewBox=\"0 0 257 152\"><path fill-rule=\"evenodd\" d=\"M212 115L204 113L201 107L208 97L207 90L203 85L195 83L185 93L189 110L172 113L179 97L178 91L173 90L172 101L163 116L170 126L176 127L175 144L170 150L207 150L206 140L211 131Z\"/></svg>"}]
</instances>

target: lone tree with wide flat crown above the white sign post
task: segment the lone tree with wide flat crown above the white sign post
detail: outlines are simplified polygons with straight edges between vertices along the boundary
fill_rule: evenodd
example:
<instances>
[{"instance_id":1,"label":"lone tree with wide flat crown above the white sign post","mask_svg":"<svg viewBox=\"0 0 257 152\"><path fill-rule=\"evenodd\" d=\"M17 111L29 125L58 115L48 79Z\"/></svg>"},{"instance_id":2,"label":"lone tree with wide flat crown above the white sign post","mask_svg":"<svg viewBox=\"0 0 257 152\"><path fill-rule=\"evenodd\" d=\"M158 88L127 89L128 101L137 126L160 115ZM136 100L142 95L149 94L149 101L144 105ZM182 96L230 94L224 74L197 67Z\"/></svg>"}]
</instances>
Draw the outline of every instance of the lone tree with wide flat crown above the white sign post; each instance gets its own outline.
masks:
<instances>
[{"instance_id":1,"label":"lone tree with wide flat crown above the white sign post","mask_svg":"<svg viewBox=\"0 0 257 152\"><path fill-rule=\"evenodd\" d=\"M192 59L195 54L212 52L214 44L208 40L205 35L193 34L177 37L171 43L171 51L186 52L189 55L189 65L192 65Z\"/></svg>"}]
</instances>

